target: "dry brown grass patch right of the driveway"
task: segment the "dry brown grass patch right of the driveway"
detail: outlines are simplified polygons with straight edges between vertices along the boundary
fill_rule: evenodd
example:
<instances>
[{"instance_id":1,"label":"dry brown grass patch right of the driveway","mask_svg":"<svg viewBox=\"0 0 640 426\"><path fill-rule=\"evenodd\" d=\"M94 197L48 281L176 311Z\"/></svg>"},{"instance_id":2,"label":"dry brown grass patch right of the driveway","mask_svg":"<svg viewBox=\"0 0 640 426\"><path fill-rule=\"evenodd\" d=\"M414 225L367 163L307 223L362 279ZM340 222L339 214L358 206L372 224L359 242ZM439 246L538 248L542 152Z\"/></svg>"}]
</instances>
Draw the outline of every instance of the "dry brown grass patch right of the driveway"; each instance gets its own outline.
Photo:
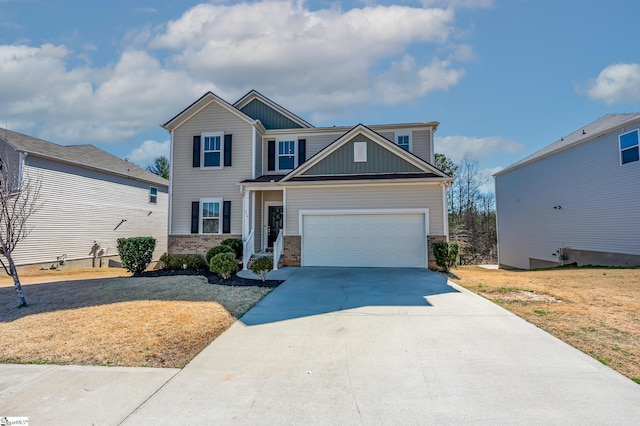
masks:
<instances>
[{"instance_id":1,"label":"dry brown grass patch right of the driveway","mask_svg":"<svg viewBox=\"0 0 640 426\"><path fill-rule=\"evenodd\" d=\"M640 269L452 273L454 282L640 383Z\"/></svg>"}]
</instances>

